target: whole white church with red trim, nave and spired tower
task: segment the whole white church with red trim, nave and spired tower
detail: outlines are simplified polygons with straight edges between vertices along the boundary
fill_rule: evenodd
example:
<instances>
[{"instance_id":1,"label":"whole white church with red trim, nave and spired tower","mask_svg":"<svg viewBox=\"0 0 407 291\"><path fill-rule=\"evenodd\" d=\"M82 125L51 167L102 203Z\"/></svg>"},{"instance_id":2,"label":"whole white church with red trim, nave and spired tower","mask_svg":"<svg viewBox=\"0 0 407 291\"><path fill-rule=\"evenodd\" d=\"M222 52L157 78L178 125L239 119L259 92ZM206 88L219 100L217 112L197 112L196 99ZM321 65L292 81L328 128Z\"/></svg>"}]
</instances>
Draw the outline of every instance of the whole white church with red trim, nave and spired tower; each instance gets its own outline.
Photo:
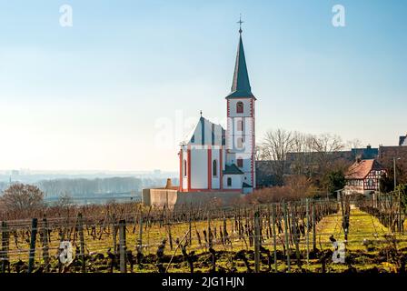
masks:
<instances>
[{"instance_id":1,"label":"whole white church with red trim, nave and spired tower","mask_svg":"<svg viewBox=\"0 0 407 291\"><path fill-rule=\"evenodd\" d=\"M239 24L242 25L242 21ZM227 128L201 117L180 145L179 192L252 193L255 177L255 101L243 50L242 26L232 89L225 96Z\"/></svg>"}]
</instances>

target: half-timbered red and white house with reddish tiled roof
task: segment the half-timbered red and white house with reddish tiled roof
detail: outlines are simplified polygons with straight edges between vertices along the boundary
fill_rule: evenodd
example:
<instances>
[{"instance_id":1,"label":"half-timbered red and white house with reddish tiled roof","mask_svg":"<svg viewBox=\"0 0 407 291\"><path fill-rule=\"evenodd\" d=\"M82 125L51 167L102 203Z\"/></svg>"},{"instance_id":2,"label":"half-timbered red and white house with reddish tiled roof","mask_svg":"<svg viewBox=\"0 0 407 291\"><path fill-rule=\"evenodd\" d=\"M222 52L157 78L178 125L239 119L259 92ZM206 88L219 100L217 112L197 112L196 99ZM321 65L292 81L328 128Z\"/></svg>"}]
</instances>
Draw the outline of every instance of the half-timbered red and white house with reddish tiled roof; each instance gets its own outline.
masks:
<instances>
[{"instance_id":1,"label":"half-timbered red and white house with reddish tiled roof","mask_svg":"<svg viewBox=\"0 0 407 291\"><path fill-rule=\"evenodd\" d=\"M346 195L368 195L380 190L380 179L386 169L375 159L358 159L345 174Z\"/></svg>"}]
</instances>

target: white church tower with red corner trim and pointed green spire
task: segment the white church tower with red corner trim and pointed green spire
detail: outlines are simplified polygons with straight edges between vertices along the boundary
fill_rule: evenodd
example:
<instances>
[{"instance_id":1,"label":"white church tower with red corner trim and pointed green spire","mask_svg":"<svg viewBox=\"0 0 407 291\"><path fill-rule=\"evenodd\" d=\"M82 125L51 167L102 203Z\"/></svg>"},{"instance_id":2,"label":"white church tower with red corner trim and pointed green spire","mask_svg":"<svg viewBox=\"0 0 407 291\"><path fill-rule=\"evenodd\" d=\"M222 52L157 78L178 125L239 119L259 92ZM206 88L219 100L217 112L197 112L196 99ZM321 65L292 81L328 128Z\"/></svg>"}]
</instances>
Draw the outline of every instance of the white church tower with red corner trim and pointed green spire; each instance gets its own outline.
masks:
<instances>
[{"instance_id":1,"label":"white church tower with red corner trim and pointed green spire","mask_svg":"<svg viewBox=\"0 0 407 291\"><path fill-rule=\"evenodd\" d=\"M226 163L236 165L243 172L243 192L255 188L255 111L256 98L247 73L242 40L242 20L234 66L231 93L227 102Z\"/></svg>"}]
</instances>

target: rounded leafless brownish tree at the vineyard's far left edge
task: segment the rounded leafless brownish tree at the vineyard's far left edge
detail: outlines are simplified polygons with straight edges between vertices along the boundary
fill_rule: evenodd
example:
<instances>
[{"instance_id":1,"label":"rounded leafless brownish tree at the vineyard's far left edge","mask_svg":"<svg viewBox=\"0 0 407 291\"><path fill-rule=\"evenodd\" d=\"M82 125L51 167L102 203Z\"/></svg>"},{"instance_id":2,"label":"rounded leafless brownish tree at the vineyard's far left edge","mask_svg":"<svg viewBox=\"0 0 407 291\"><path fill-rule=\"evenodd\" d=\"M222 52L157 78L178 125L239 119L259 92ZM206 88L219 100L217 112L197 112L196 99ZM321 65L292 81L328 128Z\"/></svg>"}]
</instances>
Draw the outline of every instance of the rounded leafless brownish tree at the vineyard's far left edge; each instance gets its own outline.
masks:
<instances>
[{"instance_id":1,"label":"rounded leafless brownish tree at the vineyard's far left edge","mask_svg":"<svg viewBox=\"0 0 407 291\"><path fill-rule=\"evenodd\" d=\"M6 212L24 212L44 206L44 193L32 185L14 184L0 197L0 208Z\"/></svg>"}]
</instances>

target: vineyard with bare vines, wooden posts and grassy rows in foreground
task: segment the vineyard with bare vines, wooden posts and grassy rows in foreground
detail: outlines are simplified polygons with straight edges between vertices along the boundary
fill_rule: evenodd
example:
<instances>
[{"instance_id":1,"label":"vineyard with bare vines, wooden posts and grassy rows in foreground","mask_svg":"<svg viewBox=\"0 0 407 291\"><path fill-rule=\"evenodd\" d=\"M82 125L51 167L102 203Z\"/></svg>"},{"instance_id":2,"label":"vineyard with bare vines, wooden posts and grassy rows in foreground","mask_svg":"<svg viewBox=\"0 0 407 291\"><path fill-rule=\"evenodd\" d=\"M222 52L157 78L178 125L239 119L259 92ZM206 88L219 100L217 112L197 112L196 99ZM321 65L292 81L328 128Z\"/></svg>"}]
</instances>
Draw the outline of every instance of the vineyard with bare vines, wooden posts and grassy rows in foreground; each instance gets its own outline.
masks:
<instances>
[{"instance_id":1,"label":"vineyard with bare vines, wooden posts and grassy rows in foreground","mask_svg":"<svg viewBox=\"0 0 407 291\"><path fill-rule=\"evenodd\" d=\"M1 217L3 273L405 272L392 196L262 206L66 206Z\"/></svg>"}]
</instances>

